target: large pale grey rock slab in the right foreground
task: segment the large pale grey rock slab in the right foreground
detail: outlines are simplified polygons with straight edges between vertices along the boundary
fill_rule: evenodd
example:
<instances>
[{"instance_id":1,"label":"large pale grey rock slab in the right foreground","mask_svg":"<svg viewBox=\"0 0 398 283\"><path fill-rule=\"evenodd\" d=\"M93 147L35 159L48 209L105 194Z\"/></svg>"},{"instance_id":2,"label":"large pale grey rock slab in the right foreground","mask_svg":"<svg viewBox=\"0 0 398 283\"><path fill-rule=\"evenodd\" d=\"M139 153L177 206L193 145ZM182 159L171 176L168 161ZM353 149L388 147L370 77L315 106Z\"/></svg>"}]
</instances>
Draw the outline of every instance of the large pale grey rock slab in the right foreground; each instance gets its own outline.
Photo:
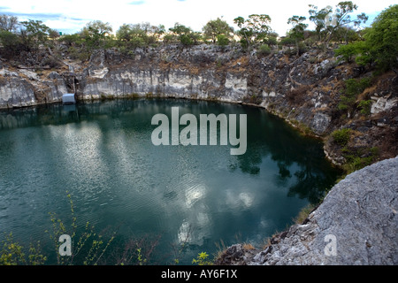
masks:
<instances>
[{"instance_id":1,"label":"large pale grey rock slab in the right foreground","mask_svg":"<svg viewBox=\"0 0 398 283\"><path fill-rule=\"evenodd\" d=\"M398 157L353 172L300 225L264 250L238 244L217 264L398 264Z\"/></svg>"}]
</instances>

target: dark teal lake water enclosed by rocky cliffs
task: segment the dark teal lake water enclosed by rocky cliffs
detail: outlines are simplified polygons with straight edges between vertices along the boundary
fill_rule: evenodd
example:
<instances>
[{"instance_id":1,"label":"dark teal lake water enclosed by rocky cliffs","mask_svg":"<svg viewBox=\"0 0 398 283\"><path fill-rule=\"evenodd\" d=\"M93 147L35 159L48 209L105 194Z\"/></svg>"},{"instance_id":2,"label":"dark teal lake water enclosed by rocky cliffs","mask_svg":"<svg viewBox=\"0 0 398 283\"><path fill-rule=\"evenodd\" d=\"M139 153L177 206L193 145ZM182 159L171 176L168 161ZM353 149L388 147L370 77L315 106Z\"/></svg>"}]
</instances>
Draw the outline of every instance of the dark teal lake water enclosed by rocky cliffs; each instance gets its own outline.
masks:
<instances>
[{"instance_id":1,"label":"dark teal lake water enclosed by rocky cliffs","mask_svg":"<svg viewBox=\"0 0 398 283\"><path fill-rule=\"evenodd\" d=\"M233 156L219 142L155 146L151 119L171 117L172 107L198 121L246 114L246 153ZM75 239L87 222L96 233L116 232L103 264L118 263L128 243L142 248L145 264L192 264L237 242L261 248L339 173L320 141L256 107L123 99L0 111L0 241L9 233L25 247L40 241L46 264L57 264L51 212L67 231L76 217Z\"/></svg>"}]
</instances>

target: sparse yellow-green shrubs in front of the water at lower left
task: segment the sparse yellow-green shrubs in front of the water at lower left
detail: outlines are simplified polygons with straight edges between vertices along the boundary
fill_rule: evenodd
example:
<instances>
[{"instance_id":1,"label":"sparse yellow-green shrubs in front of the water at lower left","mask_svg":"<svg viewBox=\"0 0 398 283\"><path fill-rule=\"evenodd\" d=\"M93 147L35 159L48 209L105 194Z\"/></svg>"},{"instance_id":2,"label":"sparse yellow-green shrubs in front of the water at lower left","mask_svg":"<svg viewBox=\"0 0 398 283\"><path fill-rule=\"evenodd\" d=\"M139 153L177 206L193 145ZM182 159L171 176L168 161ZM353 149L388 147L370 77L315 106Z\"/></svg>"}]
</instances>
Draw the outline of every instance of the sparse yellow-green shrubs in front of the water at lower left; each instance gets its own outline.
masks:
<instances>
[{"instance_id":1,"label":"sparse yellow-green shrubs in front of the water at lower left","mask_svg":"<svg viewBox=\"0 0 398 283\"><path fill-rule=\"evenodd\" d=\"M50 212L52 231L45 231L54 244L54 254L50 253L49 256L57 255L58 265L149 264L149 256L157 246L158 239L130 239L124 241L126 245L123 248L119 245L112 246L115 241L119 241L117 231L107 232L109 229L105 229L97 233L96 227L89 222L83 229L79 228L81 225L78 225L78 219L75 217L72 196L67 194L67 197L71 207L71 218L65 221ZM63 248L63 243L59 240L61 235L69 235L71 238L70 256L63 256L59 252ZM48 264L49 256L43 255L40 241L24 247L14 240L12 233L6 235L0 246L0 265Z\"/></svg>"}]
</instances>

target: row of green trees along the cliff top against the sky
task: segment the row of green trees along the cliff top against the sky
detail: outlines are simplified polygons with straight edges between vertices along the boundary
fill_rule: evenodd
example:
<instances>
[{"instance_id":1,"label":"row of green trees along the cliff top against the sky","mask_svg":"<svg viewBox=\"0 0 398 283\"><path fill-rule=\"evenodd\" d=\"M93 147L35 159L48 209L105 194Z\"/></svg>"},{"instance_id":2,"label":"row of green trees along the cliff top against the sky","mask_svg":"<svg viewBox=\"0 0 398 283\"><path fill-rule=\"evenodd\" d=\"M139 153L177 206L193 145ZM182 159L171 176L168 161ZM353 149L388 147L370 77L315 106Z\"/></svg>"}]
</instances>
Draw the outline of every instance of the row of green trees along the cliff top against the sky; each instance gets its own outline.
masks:
<instances>
[{"instance_id":1,"label":"row of green trees along the cliff top against the sky","mask_svg":"<svg viewBox=\"0 0 398 283\"><path fill-rule=\"evenodd\" d=\"M222 18L209 20L201 32L180 23L166 29L164 25L156 27L148 22L123 24L114 30L109 23L94 20L76 34L63 35L40 20L19 22L16 17L2 15L0 42L3 48L0 48L0 54L15 57L22 51L38 52L44 47L58 55L62 52L73 59L87 61L98 49L117 48L126 56L134 56L136 48L165 44L180 44L184 48L203 43L217 44L224 50L228 45L239 43L243 50L258 50L260 56L271 54L272 47L277 46L287 47L290 56L299 56L313 46L322 49L331 42L345 42L335 53L341 60L358 65L378 65L380 70L387 71L397 66L397 9L396 4L390 6L380 13L371 27L361 29L368 17L364 13L351 17L358 10L351 1L324 8L310 4L308 15L287 19L291 29L280 35L272 31L272 19L264 13L236 17L233 19L233 24L238 27L236 30ZM309 21L315 24L314 30L307 29Z\"/></svg>"}]
</instances>

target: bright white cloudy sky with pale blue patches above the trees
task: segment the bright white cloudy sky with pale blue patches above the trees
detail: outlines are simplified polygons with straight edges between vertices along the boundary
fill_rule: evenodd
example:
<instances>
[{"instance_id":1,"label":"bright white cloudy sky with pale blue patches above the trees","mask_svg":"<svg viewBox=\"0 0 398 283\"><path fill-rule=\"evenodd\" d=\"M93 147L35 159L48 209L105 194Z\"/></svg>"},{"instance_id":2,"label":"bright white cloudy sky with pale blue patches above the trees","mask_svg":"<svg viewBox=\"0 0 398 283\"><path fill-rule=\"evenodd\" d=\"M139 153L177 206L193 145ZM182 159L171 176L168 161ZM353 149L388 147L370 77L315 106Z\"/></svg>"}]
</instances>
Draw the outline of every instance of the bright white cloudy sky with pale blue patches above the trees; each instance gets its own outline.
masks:
<instances>
[{"instance_id":1,"label":"bright white cloudy sky with pale blue patches above the trees","mask_svg":"<svg viewBox=\"0 0 398 283\"><path fill-rule=\"evenodd\" d=\"M334 6L341 0L0 0L0 14L17 16L19 21L42 20L47 27L74 34L92 20L108 22L116 32L123 24L149 22L166 29L176 22L194 31L202 31L211 19L224 19L235 30L233 19L247 19L251 14L267 14L271 17L272 30L280 36L289 29L287 19L292 16L310 17L309 4L319 9ZM380 11L398 0L354 0L356 13L364 12L370 18L367 25ZM354 15L354 13L353 13ZM310 21L308 21L310 24ZM313 27L309 26L310 29Z\"/></svg>"}]
</instances>

